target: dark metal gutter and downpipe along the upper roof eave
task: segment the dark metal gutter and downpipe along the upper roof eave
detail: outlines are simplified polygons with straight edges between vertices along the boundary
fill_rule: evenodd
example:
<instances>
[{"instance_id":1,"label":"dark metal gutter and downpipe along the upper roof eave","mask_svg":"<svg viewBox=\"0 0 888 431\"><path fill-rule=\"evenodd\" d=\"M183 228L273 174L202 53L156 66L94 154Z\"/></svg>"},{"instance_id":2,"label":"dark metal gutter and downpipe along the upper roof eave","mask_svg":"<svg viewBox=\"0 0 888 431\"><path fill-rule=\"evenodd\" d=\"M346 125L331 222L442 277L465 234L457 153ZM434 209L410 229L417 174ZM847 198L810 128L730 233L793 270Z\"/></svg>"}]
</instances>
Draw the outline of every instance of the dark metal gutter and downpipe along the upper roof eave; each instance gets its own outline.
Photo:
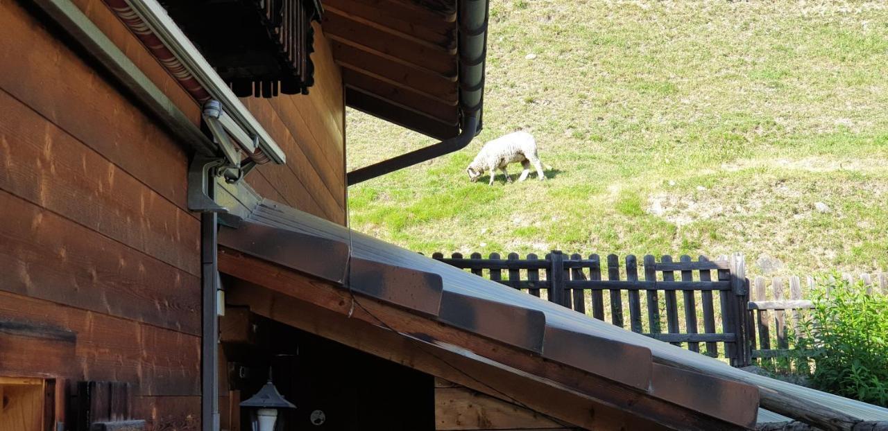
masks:
<instances>
[{"instance_id":1,"label":"dark metal gutter and downpipe along the upper roof eave","mask_svg":"<svg viewBox=\"0 0 888 431\"><path fill-rule=\"evenodd\" d=\"M130 1L130 0L128 0ZM460 134L437 144L400 154L348 173L346 183L358 184L398 169L407 168L444 154L462 150L480 133L484 106L484 67L487 58L488 0L460 0L459 16L459 106Z\"/></svg>"}]
</instances>

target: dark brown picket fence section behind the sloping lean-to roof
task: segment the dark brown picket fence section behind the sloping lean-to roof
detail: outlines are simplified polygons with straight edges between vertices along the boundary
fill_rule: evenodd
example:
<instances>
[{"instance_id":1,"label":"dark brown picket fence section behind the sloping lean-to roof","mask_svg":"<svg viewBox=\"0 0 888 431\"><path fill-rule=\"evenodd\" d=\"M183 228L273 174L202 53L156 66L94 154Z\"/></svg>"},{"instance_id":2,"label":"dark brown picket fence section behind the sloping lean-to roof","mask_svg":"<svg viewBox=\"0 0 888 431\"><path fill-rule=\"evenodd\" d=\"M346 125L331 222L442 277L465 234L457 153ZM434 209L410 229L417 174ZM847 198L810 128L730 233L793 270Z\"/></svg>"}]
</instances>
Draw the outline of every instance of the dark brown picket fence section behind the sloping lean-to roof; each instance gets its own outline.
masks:
<instances>
[{"instance_id":1,"label":"dark brown picket fence section behind the sloping lean-to roof","mask_svg":"<svg viewBox=\"0 0 888 431\"><path fill-rule=\"evenodd\" d=\"M735 366L751 361L745 348L749 291L742 255L712 261L687 255L658 261L646 255L641 263L634 255L622 261L607 255L602 262L599 255L567 256L558 250L543 259L534 254L520 259L514 253L506 259L496 253L487 259L479 253L432 257L657 340L695 352L703 344L702 353L711 357L719 356L722 344L724 357Z\"/></svg>"}]
</instances>

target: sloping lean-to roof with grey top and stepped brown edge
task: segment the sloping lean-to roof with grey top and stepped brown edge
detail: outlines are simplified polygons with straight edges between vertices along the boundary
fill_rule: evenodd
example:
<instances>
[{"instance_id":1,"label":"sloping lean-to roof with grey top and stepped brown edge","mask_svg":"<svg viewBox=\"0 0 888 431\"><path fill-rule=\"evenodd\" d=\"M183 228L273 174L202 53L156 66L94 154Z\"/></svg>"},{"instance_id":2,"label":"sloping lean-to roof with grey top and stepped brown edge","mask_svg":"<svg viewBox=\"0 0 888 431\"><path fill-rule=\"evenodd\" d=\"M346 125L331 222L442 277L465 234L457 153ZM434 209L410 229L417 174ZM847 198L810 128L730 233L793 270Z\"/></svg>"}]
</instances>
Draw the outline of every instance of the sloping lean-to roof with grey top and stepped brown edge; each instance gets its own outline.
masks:
<instances>
[{"instance_id":1,"label":"sloping lean-to roof with grey top and stepped brown edge","mask_svg":"<svg viewBox=\"0 0 888 431\"><path fill-rule=\"evenodd\" d=\"M298 259L293 256L298 255L300 244L304 243L299 237L288 238L288 234L329 239L345 245L334 255L324 256L327 262L324 265L351 262L353 267L347 274L344 270L330 271L330 274L342 273L329 278L332 281L350 281L358 292L408 309L422 310L450 325L508 341L551 360L607 376L735 424L755 423L756 409L744 409L744 403L757 403L757 393L732 382L753 385L762 392L763 399L777 399L786 405L804 407L803 410L835 411L840 420L888 420L886 409L743 372L717 359L631 333L267 200L258 204L242 228L221 231L219 241L248 255L303 270L300 266L305 265L305 256ZM263 241L255 239L262 236L277 241L280 246L276 252L270 252L267 244L257 246ZM318 249L311 246L308 253ZM367 265L377 264L391 265L393 270L374 282L368 275L377 271ZM306 272L312 273L312 269ZM405 278L405 274L409 277ZM432 283L416 277L432 277ZM428 287L435 281L440 283L439 292ZM434 302L434 298L439 298L439 302ZM509 320L503 323L503 319ZM779 418L768 412L765 415L768 421Z\"/></svg>"}]
</instances>

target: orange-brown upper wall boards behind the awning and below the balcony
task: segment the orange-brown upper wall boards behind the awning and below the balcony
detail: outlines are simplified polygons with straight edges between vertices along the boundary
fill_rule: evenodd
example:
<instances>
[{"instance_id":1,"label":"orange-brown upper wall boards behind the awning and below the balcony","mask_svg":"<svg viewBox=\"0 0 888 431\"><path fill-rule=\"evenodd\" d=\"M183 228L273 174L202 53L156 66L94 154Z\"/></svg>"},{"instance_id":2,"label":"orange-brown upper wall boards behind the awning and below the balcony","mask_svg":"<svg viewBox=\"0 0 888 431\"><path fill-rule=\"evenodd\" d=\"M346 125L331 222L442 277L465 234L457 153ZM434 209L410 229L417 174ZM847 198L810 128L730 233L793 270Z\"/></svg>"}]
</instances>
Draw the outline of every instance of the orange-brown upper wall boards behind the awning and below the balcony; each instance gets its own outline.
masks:
<instances>
[{"instance_id":1,"label":"orange-brown upper wall boards behind the awning and below the balcony","mask_svg":"<svg viewBox=\"0 0 888 431\"><path fill-rule=\"evenodd\" d=\"M10 0L4 0L10 1ZM195 124L201 109L102 0L73 0L127 57ZM314 24L314 86L309 94L242 98L287 155L247 177L264 197L345 223L345 96L339 67L322 28Z\"/></svg>"}]
</instances>

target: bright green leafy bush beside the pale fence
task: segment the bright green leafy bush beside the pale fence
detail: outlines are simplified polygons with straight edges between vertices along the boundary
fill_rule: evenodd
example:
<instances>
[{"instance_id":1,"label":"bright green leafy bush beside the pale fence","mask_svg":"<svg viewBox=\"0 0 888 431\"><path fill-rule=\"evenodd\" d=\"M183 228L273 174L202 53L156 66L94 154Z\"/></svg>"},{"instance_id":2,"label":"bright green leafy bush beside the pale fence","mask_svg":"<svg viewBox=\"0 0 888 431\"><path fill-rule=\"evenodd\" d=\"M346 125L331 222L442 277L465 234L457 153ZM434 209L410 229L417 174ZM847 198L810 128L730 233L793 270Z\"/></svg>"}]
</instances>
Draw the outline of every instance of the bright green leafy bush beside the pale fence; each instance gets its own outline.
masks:
<instances>
[{"instance_id":1,"label":"bright green leafy bush beside the pale fence","mask_svg":"<svg viewBox=\"0 0 888 431\"><path fill-rule=\"evenodd\" d=\"M888 295L844 280L812 295L814 308L793 338L797 355L806 350L813 359L813 387L888 406Z\"/></svg>"}]
</instances>

